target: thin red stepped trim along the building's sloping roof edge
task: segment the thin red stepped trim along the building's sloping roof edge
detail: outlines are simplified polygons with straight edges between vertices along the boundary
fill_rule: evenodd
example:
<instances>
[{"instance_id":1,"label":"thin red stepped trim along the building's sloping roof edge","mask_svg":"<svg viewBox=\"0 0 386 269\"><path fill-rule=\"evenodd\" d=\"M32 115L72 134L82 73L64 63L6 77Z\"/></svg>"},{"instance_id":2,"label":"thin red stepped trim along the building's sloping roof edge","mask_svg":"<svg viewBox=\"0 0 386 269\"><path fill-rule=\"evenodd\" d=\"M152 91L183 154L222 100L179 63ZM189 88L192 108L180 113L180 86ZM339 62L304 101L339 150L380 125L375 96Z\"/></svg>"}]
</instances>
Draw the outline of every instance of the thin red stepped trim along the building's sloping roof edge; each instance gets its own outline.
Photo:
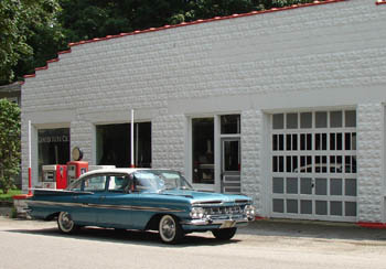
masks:
<instances>
[{"instance_id":1,"label":"thin red stepped trim along the building's sloping roof edge","mask_svg":"<svg viewBox=\"0 0 386 269\"><path fill-rule=\"evenodd\" d=\"M215 17L215 18L212 18L212 19L196 20L196 21L193 21L193 22L182 22L180 24L164 25L164 26L161 26L161 28L150 28L150 29L147 29L147 30L137 30L137 31L133 31L131 33L120 33L120 34L117 34L117 35L107 35L105 37L68 43L69 50L58 52L57 54L61 55L61 54L65 54L65 53L71 53L71 47L72 46L77 46L77 45L83 45L83 44L88 44L88 43L94 43L94 42L99 42L99 41L106 41L106 40L111 40L111 39L118 39L118 37L122 37L122 36L126 36L126 35L142 34L142 33L156 32L156 31L168 30L168 29L173 29L173 28L181 28L181 26L187 26L187 25L193 25L193 24L207 23L207 22L213 22L213 21L229 20L229 19L243 18L243 17L249 17L249 15L272 13L272 12L277 12L277 11L286 11L286 10L291 10L291 9L307 8L307 7L311 7L311 6L320 6L320 4L336 3L336 2L344 2L344 1L349 1L349 0L314 1L312 3L292 4L290 7L283 7L283 8L279 8L279 9L274 8L274 9L270 9L270 10L251 11L249 13L243 13L243 14L233 14L233 15L227 15L227 17ZM382 2L378 2L378 1L382 1ZM386 3L386 0L377 0L377 4L380 4L380 3ZM50 60L50 61L47 61L47 65L46 66L37 67L37 68L35 68L35 71L47 69L49 68L49 63L53 63L53 62L57 62L57 61L58 61L58 58ZM24 75L24 78L30 78L30 77L35 77L35 74Z\"/></svg>"}]
</instances>

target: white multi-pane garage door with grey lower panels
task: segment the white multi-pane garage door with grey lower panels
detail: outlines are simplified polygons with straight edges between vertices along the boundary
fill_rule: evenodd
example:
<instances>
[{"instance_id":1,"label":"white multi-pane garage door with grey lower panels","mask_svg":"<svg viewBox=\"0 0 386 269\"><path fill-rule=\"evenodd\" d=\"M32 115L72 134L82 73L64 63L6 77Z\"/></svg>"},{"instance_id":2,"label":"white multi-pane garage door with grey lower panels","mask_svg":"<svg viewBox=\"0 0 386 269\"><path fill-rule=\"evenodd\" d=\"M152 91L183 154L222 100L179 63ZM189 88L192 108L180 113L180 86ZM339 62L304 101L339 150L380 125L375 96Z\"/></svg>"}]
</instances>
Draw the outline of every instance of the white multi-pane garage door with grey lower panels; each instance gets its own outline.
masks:
<instances>
[{"instance_id":1,"label":"white multi-pane garage door with grey lower panels","mask_svg":"<svg viewBox=\"0 0 386 269\"><path fill-rule=\"evenodd\" d=\"M355 110L271 115L271 216L356 220Z\"/></svg>"}]
</instances>

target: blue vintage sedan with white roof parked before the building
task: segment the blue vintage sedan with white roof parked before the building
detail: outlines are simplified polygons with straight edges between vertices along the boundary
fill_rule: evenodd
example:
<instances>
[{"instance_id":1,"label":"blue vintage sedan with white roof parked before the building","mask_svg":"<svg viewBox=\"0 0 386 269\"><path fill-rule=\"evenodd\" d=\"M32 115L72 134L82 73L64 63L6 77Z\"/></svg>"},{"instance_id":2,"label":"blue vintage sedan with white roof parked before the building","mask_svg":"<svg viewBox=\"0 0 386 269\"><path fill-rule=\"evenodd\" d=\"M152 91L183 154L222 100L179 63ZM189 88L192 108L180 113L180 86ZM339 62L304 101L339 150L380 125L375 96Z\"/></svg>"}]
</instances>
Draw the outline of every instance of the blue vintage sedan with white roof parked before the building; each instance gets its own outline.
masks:
<instances>
[{"instance_id":1,"label":"blue vintage sedan with white roof parked before the building","mask_svg":"<svg viewBox=\"0 0 386 269\"><path fill-rule=\"evenodd\" d=\"M171 170L92 171L64 191L35 190L29 207L34 218L57 218L65 234L82 226L150 229L169 244L192 232L211 230L218 239L230 239L255 217L249 197L193 191Z\"/></svg>"}]
</instances>

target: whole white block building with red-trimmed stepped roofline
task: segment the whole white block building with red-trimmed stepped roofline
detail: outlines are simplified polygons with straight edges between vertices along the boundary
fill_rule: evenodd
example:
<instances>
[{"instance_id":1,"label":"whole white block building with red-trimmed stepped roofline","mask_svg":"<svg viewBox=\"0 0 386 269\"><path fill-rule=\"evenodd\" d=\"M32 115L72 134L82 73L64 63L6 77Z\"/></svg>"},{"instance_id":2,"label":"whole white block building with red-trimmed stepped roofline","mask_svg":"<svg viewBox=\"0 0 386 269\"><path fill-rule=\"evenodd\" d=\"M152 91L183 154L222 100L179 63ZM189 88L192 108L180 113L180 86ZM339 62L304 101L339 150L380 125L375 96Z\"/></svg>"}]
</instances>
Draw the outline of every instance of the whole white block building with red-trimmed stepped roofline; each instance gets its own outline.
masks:
<instances>
[{"instance_id":1,"label":"whole white block building with red-trimmed stepped roofline","mask_svg":"<svg viewBox=\"0 0 386 269\"><path fill-rule=\"evenodd\" d=\"M135 109L148 164L197 189L240 189L259 216L386 223L386 4L374 1L71 44L22 87L24 189L28 120L35 184L44 131L67 130L68 148L104 164Z\"/></svg>"}]
</instances>

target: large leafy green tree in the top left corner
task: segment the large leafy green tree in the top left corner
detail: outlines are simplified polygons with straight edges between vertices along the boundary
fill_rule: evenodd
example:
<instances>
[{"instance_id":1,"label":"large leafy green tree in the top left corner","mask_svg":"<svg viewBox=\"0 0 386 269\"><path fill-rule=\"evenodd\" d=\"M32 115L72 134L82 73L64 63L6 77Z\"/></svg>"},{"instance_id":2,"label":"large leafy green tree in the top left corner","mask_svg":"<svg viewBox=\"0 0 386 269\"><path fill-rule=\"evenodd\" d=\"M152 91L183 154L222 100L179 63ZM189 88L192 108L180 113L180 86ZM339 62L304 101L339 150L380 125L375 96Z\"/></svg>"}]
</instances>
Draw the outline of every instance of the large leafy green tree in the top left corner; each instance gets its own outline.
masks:
<instances>
[{"instance_id":1,"label":"large leafy green tree in the top left corner","mask_svg":"<svg viewBox=\"0 0 386 269\"><path fill-rule=\"evenodd\" d=\"M0 85L45 65L63 45L57 0L0 1Z\"/></svg>"}]
</instances>

